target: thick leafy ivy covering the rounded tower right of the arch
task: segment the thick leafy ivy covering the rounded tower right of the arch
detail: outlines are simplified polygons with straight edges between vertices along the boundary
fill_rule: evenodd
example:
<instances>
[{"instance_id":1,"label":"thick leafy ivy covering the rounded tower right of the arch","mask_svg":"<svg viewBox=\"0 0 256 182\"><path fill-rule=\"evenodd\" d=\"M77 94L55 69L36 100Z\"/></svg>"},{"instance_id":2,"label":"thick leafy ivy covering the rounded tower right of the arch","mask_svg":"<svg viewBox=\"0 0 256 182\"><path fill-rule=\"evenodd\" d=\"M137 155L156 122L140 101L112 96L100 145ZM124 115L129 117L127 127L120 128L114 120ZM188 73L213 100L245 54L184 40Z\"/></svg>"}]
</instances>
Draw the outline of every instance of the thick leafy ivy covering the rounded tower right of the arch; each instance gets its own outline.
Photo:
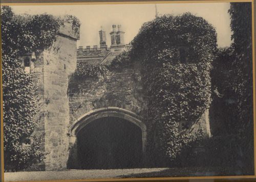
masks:
<instances>
[{"instance_id":1,"label":"thick leafy ivy covering the rounded tower right of the arch","mask_svg":"<svg viewBox=\"0 0 256 182\"><path fill-rule=\"evenodd\" d=\"M148 152L154 165L169 165L183 147L201 137L188 132L211 102L211 62L217 50L215 28L190 13L146 22L132 42L132 60L144 66L151 132ZM185 123L183 129L179 123ZM163 164L159 164L159 156Z\"/></svg>"}]
</instances>

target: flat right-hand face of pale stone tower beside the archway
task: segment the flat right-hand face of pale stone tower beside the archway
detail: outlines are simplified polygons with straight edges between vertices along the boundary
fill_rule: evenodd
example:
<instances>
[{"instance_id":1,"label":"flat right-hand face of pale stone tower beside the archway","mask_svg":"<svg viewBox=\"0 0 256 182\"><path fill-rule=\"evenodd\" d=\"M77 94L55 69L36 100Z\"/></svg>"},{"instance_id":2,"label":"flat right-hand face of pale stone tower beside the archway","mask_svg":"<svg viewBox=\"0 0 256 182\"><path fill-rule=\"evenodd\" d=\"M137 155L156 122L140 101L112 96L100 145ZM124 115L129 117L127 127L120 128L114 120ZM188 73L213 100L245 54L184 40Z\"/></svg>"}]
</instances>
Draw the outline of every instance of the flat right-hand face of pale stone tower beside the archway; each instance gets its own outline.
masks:
<instances>
[{"instance_id":1,"label":"flat right-hand face of pale stone tower beside the archway","mask_svg":"<svg viewBox=\"0 0 256 182\"><path fill-rule=\"evenodd\" d=\"M55 51L55 48L59 48ZM45 121L45 149L49 154L46 169L65 169L68 152L69 100L67 96L68 75L76 66L76 41L57 37L49 51L44 52L45 98L48 100Z\"/></svg>"}]
</instances>

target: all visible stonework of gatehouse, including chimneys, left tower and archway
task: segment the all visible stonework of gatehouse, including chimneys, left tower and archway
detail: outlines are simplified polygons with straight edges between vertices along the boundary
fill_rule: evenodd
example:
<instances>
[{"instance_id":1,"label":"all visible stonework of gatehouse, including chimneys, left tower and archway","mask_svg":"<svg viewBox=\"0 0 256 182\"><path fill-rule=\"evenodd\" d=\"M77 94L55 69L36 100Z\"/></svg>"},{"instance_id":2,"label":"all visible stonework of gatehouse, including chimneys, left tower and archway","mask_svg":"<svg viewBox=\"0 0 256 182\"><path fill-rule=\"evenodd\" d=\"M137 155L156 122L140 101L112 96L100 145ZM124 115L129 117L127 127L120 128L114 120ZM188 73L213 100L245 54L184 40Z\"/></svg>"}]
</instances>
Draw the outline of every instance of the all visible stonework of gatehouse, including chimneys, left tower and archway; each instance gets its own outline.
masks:
<instances>
[{"instance_id":1,"label":"all visible stonework of gatehouse, including chimneys, left tower and archway","mask_svg":"<svg viewBox=\"0 0 256 182\"><path fill-rule=\"evenodd\" d=\"M147 100L138 64L114 70L99 79L76 79L77 63L110 64L124 44L121 25L113 25L111 46L99 31L100 47L76 48L79 29L66 20L53 45L28 54L24 67L34 72L40 90L35 134L44 136L46 159L37 170L139 168L145 164ZM182 127L182 123L180 123ZM190 128L210 136L208 110Z\"/></svg>"}]
</instances>

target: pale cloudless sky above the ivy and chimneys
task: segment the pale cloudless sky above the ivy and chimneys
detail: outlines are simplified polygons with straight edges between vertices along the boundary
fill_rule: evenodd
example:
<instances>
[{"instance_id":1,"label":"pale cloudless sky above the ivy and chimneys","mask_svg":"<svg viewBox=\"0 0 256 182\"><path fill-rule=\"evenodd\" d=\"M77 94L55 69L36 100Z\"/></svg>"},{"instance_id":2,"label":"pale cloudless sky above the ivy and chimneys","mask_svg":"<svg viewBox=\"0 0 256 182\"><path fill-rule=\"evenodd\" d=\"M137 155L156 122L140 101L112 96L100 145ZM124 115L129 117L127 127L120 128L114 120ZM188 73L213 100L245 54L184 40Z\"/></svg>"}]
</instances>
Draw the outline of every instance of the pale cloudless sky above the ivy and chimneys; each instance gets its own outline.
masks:
<instances>
[{"instance_id":1,"label":"pale cloudless sky above the ivy and chimneys","mask_svg":"<svg viewBox=\"0 0 256 182\"><path fill-rule=\"evenodd\" d=\"M217 31L219 47L231 43L229 3L169 3L156 4L158 14L179 15L191 12L211 23ZM111 45L110 32L112 24L121 24L125 32L124 41L129 43L138 33L141 25L155 18L155 4L115 4L115 5L40 5L11 6L16 14L42 14L55 16L75 15L81 22L80 40L77 47L87 45L99 46L100 27L106 32L106 44Z\"/></svg>"}]
</instances>

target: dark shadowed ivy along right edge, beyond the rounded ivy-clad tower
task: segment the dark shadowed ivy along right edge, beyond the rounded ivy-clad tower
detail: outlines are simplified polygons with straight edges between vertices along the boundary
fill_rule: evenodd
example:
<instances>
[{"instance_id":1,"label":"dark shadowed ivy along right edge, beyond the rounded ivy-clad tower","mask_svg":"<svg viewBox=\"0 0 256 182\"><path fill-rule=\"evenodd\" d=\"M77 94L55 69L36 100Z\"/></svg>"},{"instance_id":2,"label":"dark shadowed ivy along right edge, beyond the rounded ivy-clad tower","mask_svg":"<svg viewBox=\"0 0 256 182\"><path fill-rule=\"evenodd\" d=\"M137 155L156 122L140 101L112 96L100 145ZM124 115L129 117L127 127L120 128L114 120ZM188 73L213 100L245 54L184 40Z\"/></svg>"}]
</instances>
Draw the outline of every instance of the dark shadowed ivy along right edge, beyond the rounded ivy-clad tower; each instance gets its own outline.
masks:
<instances>
[{"instance_id":1,"label":"dark shadowed ivy along right edge, beyond the rounded ivy-clad tower","mask_svg":"<svg viewBox=\"0 0 256 182\"><path fill-rule=\"evenodd\" d=\"M236 166L236 174L251 175L253 164L253 75L251 3L230 3L230 47L219 49L212 69L212 139L207 163Z\"/></svg>"}]
</instances>

